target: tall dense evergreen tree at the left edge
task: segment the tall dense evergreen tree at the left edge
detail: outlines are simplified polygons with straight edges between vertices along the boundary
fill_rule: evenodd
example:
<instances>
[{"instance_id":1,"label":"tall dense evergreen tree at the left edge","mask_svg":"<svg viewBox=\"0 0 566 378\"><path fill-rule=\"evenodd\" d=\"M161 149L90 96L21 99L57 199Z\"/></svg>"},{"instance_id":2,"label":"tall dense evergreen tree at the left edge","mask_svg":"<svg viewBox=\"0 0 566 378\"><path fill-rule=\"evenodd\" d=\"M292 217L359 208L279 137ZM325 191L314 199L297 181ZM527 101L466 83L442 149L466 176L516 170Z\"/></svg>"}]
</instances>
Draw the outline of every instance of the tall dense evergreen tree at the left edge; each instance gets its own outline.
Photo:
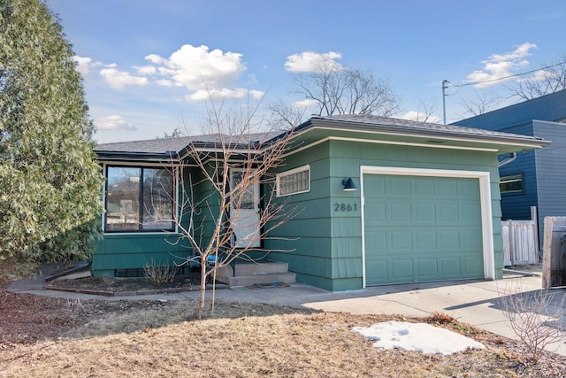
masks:
<instances>
[{"instance_id":1,"label":"tall dense evergreen tree at the left edge","mask_svg":"<svg viewBox=\"0 0 566 378\"><path fill-rule=\"evenodd\" d=\"M0 260L87 258L100 226L80 74L40 0L0 0Z\"/></svg>"}]
</instances>

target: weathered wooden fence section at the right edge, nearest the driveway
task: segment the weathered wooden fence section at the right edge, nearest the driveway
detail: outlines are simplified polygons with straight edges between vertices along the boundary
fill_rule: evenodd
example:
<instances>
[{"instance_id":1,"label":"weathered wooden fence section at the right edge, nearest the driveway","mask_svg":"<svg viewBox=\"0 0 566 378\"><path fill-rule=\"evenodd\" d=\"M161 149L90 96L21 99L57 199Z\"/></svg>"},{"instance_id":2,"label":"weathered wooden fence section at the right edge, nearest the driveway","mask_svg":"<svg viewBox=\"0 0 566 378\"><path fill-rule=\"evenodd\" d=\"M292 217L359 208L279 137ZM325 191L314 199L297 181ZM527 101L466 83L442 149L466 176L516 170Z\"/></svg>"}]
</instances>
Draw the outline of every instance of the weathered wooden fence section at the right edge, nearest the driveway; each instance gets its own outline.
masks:
<instances>
[{"instance_id":1,"label":"weathered wooden fence section at the right edge, nearest the driveway","mask_svg":"<svg viewBox=\"0 0 566 378\"><path fill-rule=\"evenodd\" d=\"M566 285L566 217L545 217L542 287Z\"/></svg>"}]
</instances>

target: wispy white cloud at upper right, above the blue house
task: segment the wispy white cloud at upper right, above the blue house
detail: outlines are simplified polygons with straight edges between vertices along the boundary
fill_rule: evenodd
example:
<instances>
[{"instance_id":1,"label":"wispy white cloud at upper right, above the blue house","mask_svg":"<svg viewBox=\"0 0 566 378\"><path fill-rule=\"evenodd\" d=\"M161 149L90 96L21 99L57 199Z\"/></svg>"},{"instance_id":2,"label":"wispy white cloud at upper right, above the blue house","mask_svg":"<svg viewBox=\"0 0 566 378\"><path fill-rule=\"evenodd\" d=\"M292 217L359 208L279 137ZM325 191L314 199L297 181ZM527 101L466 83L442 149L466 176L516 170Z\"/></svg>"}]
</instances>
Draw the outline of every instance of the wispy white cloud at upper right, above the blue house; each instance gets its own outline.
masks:
<instances>
[{"instance_id":1,"label":"wispy white cloud at upper right, above the blue house","mask_svg":"<svg viewBox=\"0 0 566 378\"><path fill-rule=\"evenodd\" d=\"M531 50L536 49L534 43L525 42L519 45L515 50L505 54L493 54L481 63L484 67L481 70L470 73L466 78L466 82L489 81L478 83L476 87L486 88L491 85L500 84L503 81L512 80L502 79L516 73L517 70L529 65L529 61L525 58L531 55ZM501 81L497 81L501 79Z\"/></svg>"}]
</instances>

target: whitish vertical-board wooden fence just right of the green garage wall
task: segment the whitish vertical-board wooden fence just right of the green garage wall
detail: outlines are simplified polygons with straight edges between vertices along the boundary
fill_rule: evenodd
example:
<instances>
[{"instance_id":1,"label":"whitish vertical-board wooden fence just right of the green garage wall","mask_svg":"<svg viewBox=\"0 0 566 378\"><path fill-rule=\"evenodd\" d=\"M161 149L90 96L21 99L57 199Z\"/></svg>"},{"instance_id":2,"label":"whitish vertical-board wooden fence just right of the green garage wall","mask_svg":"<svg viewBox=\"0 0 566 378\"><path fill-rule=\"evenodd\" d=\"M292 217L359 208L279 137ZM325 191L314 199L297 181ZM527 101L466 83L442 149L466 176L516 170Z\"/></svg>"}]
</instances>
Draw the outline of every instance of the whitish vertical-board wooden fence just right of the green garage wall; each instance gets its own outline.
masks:
<instances>
[{"instance_id":1,"label":"whitish vertical-board wooden fence just right of the green garage wall","mask_svg":"<svg viewBox=\"0 0 566 378\"><path fill-rule=\"evenodd\" d=\"M539 263L536 208L532 208L531 211L532 220L501 221L505 266Z\"/></svg>"}]
</instances>

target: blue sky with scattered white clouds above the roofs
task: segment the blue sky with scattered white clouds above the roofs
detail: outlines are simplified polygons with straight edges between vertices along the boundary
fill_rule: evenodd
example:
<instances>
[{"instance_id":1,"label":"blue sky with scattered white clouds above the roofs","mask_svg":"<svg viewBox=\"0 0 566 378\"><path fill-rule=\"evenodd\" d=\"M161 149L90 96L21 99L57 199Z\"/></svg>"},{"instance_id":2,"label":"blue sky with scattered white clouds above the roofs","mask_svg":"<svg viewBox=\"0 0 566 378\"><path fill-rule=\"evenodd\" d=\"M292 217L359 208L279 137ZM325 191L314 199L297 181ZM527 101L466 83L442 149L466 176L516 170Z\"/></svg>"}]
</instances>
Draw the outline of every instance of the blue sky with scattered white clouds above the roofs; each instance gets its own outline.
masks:
<instances>
[{"instance_id":1,"label":"blue sky with scattered white clouds above the roofs","mask_svg":"<svg viewBox=\"0 0 566 378\"><path fill-rule=\"evenodd\" d=\"M427 104L440 123L443 80L484 81L566 57L563 0L46 3L73 44L99 143L176 127L200 134L203 81L242 103L262 97L260 115L279 99L294 104L302 98L290 77L324 54L386 80L401 96L396 117L416 119ZM462 101L509 95L513 80L448 88L447 122L465 116Z\"/></svg>"}]
</instances>

